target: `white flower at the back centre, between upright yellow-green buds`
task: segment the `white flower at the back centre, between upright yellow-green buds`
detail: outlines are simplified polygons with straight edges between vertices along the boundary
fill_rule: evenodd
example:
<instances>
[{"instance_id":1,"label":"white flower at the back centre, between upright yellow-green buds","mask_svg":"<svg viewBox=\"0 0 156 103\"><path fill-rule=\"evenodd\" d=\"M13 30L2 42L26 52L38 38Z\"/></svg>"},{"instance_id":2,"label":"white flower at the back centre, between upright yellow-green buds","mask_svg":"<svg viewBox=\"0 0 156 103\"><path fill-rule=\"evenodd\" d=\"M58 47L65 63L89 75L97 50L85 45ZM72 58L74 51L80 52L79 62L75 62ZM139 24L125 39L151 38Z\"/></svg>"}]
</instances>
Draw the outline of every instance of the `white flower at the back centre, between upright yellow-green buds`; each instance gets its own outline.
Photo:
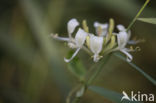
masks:
<instances>
[{"instance_id":1,"label":"white flower at the back centre, between upright yellow-green buds","mask_svg":"<svg viewBox=\"0 0 156 103\"><path fill-rule=\"evenodd\" d=\"M107 35L107 30L108 30L108 24L101 24L99 22L94 22L94 27L96 29L96 34L99 36L106 36Z\"/></svg>"}]
</instances>

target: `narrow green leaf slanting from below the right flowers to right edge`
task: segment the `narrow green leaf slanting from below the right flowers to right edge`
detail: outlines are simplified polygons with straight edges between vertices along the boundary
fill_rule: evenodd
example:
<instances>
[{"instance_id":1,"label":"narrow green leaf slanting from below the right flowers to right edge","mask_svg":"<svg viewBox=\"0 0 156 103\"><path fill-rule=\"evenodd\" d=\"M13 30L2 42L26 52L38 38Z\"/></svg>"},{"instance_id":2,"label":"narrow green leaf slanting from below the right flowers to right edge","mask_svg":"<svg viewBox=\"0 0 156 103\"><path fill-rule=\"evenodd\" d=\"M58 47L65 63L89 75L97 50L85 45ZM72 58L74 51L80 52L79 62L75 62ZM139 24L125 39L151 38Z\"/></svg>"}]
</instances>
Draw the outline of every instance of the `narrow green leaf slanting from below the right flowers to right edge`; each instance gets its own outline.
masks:
<instances>
[{"instance_id":1,"label":"narrow green leaf slanting from below the right flowers to right edge","mask_svg":"<svg viewBox=\"0 0 156 103\"><path fill-rule=\"evenodd\" d=\"M126 61L126 58L124 56L122 56L119 53L114 53L115 56L119 57L121 60ZM141 68L139 68L138 66L136 66L134 63L132 62L127 62L130 66L132 66L134 69L136 69L138 72L140 72L146 79L148 79L150 82L152 82L154 85L156 85L156 80L153 79L151 76L149 76L147 73L145 73Z\"/></svg>"}]
</instances>

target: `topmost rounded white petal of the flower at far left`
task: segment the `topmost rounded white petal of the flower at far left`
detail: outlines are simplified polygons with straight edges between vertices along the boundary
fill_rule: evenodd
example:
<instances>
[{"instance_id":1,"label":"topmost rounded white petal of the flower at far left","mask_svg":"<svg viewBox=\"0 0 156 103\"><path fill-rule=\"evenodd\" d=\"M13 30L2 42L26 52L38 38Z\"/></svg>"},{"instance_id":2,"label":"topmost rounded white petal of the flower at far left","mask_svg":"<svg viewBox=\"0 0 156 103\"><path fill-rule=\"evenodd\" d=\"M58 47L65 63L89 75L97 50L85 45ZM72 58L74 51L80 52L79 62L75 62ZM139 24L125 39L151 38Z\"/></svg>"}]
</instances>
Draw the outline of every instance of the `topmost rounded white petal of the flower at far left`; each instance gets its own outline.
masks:
<instances>
[{"instance_id":1,"label":"topmost rounded white petal of the flower at far left","mask_svg":"<svg viewBox=\"0 0 156 103\"><path fill-rule=\"evenodd\" d=\"M74 32L75 28L78 25L79 22L75 18L69 20L69 22L67 23L67 30L68 30L69 37L71 37L71 34Z\"/></svg>"}]
</instances>

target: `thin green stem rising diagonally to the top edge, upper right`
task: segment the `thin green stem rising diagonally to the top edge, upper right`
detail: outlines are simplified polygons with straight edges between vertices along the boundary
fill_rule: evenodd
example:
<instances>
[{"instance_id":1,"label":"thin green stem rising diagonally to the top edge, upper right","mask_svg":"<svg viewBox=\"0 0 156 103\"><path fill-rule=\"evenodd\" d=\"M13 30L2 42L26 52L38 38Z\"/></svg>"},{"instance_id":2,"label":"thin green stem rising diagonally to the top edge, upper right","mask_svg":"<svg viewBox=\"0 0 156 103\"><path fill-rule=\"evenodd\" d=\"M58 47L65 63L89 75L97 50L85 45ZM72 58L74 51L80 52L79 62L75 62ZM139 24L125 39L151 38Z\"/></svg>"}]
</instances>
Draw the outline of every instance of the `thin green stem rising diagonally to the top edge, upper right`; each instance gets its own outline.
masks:
<instances>
[{"instance_id":1,"label":"thin green stem rising diagonally to the top edge, upper right","mask_svg":"<svg viewBox=\"0 0 156 103\"><path fill-rule=\"evenodd\" d=\"M137 15L135 16L135 18L132 20L132 22L129 24L128 28L126 29L126 31L128 31L132 25L135 23L135 21L137 20L137 18L140 16L140 14L142 13L142 11L144 10L144 8L147 6L147 4L149 3L150 0L146 0L146 2L144 3L144 5L141 7L141 9L139 10L139 12L137 13Z\"/></svg>"}]
</instances>

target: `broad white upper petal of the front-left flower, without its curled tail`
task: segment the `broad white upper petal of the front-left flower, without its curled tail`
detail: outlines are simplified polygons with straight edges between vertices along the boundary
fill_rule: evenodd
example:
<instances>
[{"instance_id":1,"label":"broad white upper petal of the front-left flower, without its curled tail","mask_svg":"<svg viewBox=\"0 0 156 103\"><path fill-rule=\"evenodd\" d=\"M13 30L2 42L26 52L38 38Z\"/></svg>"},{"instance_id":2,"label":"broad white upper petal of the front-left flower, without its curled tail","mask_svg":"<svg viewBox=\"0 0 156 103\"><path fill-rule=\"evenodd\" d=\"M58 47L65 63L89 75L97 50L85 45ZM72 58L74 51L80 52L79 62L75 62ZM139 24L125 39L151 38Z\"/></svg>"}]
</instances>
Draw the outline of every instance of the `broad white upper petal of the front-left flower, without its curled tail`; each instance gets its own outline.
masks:
<instances>
[{"instance_id":1,"label":"broad white upper petal of the front-left flower, without its curled tail","mask_svg":"<svg viewBox=\"0 0 156 103\"><path fill-rule=\"evenodd\" d=\"M86 33L83 29L79 28L78 32L75 36L75 42L78 47L82 47L84 44L88 33Z\"/></svg>"}]
</instances>

